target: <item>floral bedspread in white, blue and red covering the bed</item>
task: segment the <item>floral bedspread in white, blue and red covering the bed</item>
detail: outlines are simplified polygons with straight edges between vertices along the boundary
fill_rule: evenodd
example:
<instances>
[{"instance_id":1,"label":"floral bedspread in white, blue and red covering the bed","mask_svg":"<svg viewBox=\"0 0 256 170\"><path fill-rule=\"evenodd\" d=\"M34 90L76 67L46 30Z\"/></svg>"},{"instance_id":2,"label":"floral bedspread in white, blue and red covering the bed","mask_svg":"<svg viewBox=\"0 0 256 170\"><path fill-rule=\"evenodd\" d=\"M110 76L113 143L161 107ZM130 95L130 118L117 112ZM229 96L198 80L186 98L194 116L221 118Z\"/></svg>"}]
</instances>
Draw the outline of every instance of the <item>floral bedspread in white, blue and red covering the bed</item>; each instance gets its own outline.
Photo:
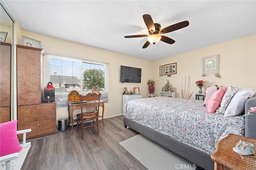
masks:
<instances>
[{"instance_id":1,"label":"floral bedspread in white, blue and red covering the bed","mask_svg":"<svg viewBox=\"0 0 256 170\"><path fill-rule=\"evenodd\" d=\"M228 133L244 136L244 118L209 114L203 101L155 97L130 100L126 117L208 154Z\"/></svg>"}]
</instances>

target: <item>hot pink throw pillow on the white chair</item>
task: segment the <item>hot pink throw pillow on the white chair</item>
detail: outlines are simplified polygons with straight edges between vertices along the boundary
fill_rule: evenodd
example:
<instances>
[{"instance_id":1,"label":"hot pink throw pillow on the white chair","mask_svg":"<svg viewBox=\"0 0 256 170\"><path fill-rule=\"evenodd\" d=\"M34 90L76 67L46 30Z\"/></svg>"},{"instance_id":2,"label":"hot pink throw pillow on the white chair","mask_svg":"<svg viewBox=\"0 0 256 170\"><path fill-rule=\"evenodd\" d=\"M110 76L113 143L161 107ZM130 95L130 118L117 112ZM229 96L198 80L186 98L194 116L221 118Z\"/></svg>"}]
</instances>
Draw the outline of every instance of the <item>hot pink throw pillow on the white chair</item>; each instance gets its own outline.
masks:
<instances>
[{"instance_id":1,"label":"hot pink throw pillow on the white chair","mask_svg":"<svg viewBox=\"0 0 256 170\"><path fill-rule=\"evenodd\" d=\"M22 146L17 137L17 120L0 124L0 156L20 152Z\"/></svg>"}]
</instances>

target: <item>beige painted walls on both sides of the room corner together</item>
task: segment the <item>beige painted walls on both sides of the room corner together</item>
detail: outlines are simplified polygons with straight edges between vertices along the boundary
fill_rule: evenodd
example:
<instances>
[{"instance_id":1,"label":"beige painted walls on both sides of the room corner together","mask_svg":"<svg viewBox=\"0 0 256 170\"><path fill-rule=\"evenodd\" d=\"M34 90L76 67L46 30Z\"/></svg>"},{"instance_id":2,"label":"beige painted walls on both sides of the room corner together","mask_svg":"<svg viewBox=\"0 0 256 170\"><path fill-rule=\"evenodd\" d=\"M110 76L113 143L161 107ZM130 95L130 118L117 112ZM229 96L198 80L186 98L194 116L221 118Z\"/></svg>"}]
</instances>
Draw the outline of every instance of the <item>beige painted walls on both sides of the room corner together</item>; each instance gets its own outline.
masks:
<instances>
[{"instance_id":1,"label":"beige painted walls on both sides of the room corner together","mask_svg":"<svg viewBox=\"0 0 256 170\"><path fill-rule=\"evenodd\" d=\"M181 78L183 86L187 76L190 76L190 90L197 93L198 88L194 84L196 80L206 80L206 87L218 84L219 86L235 85L238 87L249 87L256 89L256 35L234 39L224 43L212 45L202 49L189 51L186 53L166 57L156 61L147 61L111 51L97 49L86 45L80 45L44 35L22 31L16 32L17 44L22 45L22 35L42 42L45 53L68 55L82 59L91 59L109 63L109 99L105 104L105 117L112 117L122 114L122 93L124 87L133 89L140 88L143 98L148 94L147 81L154 78L155 94L162 89L167 79L170 79L176 92L181 90ZM21 38L18 38L21 37ZM211 55L220 55L219 68L221 78L216 78L214 74L207 74L202 77L202 59ZM159 76L159 66L177 62L177 74L171 77ZM120 83L120 65L142 68L142 83ZM178 94L176 94L178 96ZM193 95L194 98L194 95ZM57 109L57 120L67 117L67 107ZM56 120L56 121L57 121Z\"/></svg>"}]
</instances>

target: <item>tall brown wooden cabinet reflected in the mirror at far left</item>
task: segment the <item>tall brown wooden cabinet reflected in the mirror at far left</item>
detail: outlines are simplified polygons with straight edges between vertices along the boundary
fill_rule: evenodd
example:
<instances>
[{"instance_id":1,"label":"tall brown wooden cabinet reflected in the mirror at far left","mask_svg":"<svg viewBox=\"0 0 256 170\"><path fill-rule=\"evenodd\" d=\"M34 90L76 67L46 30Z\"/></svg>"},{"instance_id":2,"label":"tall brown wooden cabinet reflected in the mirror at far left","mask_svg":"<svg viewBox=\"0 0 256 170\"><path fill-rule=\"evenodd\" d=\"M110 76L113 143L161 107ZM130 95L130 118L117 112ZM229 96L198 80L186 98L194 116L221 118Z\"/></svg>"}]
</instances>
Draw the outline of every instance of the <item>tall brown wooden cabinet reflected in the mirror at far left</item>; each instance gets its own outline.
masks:
<instances>
[{"instance_id":1,"label":"tall brown wooden cabinet reflected in the mirror at far left","mask_svg":"<svg viewBox=\"0 0 256 170\"><path fill-rule=\"evenodd\" d=\"M10 43L0 42L0 123L11 120L11 51Z\"/></svg>"}]
</instances>

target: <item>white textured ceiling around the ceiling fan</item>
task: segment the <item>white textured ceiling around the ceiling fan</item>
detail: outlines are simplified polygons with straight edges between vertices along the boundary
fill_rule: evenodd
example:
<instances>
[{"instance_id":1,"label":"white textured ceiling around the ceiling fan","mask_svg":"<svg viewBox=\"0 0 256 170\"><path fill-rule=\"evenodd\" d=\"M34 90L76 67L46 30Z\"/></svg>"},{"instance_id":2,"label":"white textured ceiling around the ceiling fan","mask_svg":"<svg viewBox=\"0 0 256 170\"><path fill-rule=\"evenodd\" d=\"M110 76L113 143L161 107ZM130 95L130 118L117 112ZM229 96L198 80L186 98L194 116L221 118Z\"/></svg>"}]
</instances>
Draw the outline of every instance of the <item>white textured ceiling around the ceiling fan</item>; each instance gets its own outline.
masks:
<instances>
[{"instance_id":1,"label":"white textured ceiling around the ceiling fan","mask_svg":"<svg viewBox=\"0 0 256 170\"><path fill-rule=\"evenodd\" d=\"M2 0L23 30L147 60L156 60L256 33L256 1ZM150 14L176 42L142 49ZM33 38L33 37L31 37ZM40 39L39 39L40 41ZM42 47L44 47L42 42Z\"/></svg>"}]
</instances>

